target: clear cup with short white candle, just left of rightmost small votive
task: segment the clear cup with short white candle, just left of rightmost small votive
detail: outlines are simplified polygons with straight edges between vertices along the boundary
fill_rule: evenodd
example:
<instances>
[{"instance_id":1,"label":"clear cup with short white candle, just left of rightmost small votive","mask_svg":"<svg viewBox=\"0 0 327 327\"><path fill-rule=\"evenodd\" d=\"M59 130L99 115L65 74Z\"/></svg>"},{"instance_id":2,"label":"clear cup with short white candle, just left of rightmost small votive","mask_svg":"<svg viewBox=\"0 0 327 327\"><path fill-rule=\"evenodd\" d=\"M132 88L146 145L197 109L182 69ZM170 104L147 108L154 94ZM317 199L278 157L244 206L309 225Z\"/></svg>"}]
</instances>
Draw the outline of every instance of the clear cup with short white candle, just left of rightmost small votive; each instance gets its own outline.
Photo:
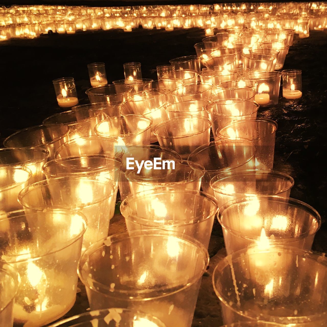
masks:
<instances>
[{"instance_id":1,"label":"clear cup with short white candle, just left of rightmost small votive","mask_svg":"<svg viewBox=\"0 0 327 327\"><path fill-rule=\"evenodd\" d=\"M258 83L257 94L254 96L260 107L270 107L278 104L281 85L281 72L253 72L243 76Z\"/></svg>"}]
</instances>

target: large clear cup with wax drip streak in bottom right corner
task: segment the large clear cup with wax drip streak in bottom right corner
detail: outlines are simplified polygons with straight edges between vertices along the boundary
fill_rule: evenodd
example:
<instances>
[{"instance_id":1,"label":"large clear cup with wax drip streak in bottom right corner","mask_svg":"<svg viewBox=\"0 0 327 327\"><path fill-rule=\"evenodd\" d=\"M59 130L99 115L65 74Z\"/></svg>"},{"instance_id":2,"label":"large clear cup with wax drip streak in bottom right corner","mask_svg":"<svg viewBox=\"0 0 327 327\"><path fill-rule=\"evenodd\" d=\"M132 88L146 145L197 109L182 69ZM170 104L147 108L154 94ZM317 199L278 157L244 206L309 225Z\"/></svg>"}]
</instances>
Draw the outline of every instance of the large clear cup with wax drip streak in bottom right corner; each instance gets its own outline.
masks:
<instances>
[{"instance_id":1,"label":"large clear cup with wax drip streak in bottom right corner","mask_svg":"<svg viewBox=\"0 0 327 327\"><path fill-rule=\"evenodd\" d=\"M213 274L223 322L323 327L326 273L324 255L296 247L254 246L234 252L217 264Z\"/></svg>"}]
</instances>

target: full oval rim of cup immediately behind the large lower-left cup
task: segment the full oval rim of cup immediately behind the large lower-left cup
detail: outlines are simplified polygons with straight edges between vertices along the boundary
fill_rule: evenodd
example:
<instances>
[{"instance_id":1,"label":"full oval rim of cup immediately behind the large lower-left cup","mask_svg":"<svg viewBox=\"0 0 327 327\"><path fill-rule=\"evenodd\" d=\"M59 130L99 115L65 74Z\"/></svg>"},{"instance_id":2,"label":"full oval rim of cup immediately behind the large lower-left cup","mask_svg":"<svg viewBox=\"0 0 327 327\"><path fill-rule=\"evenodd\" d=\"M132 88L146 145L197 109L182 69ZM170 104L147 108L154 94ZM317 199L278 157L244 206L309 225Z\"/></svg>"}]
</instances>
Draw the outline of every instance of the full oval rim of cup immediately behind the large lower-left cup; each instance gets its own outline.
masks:
<instances>
[{"instance_id":1,"label":"full oval rim of cup immediately behind the large lower-left cup","mask_svg":"<svg viewBox=\"0 0 327 327\"><path fill-rule=\"evenodd\" d=\"M101 181L101 180L99 180L99 179L97 179L97 178L95 178L95 177L92 177L92 176L86 176L86 177L83 177L83 179L80 179L79 177L77 177L77 176L60 176L60 177L52 177L52 178L50 178L50 179L48 179L48 180L43 180L43 181L39 181L39 182L35 182L35 183L33 183L33 184L30 184L30 185L28 185L28 186L26 186L24 189L22 189L20 192L19 192L19 194L18 194L18 202L24 207L24 208L27 208L27 209L34 209L34 210L38 210L38 211L42 211L44 208L46 208L47 206L44 204L44 205L41 205L41 206L39 206L39 207L34 207L34 206L32 206L32 207L29 207L26 203L25 203L25 201L23 201L23 198L24 198L24 196L26 195L26 194L28 194L28 193L30 193L31 191L33 191L33 190L35 190L35 189L39 189L39 188L41 188L41 187L45 187L45 186L47 186L48 185L48 182L50 182L51 184L54 184L54 183L58 183L59 181L58 180L74 180L74 181L92 181L92 182L97 182L97 183L101 183L101 184L105 184L105 185L110 185L111 186L111 188L112 188L112 190L111 190L111 192L110 192L110 194L109 195L103 195L101 198L98 198L98 199L96 199L96 200L94 200L94 201L92 201L91 203L89 203L88 205L83 205L82 206L82 208L84 209L84 208L89 208L89 207L91 207L91 206L93 206L93 205L95 205L95 204L97 204L97 203L100 203L100 202L102 202L102 201L104 201L104 200L106 200L106 199L108 199L108 198L110 198L110 197L112 197L112 195L114 194L114 192L115 192L115 190L116 190L116 184L115 184L115 182L114 181L112 181L111 179L106 179L106 181L104 182L104 181ZM51 208L51 207L50 207ZM62 207L62 208L64 208L64 207ZM66 208L64 208L64 209L66 209ZM76 211L78 211L78 210L80 210L81 209L81 207L78 207L77 205L76 205L76 208L74 208L74 209L71 209L71 208L67 208L67 210L76 210Z\"/></svg>"}]
</instances>

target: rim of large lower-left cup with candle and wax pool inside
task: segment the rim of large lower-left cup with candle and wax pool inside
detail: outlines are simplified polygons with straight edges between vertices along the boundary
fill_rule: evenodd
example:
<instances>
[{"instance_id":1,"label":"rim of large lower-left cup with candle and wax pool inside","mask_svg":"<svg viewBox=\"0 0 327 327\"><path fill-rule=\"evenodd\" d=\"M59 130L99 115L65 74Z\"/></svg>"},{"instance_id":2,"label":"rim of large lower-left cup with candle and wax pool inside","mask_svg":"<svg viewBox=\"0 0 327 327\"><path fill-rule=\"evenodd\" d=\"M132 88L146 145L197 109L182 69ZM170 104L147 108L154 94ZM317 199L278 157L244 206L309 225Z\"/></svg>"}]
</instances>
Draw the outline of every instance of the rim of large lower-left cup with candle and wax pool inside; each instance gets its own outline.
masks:
<instances>
[{"instance_id":1,"label":"rim of large lower-left cup with candle and wax pool inside","mask_svg":"<svg viewBox=\"0 0 327 327\"><path fill-rule=\"evenodd\" d=\"M45 211L44 211L45 210ZM42 255L37 255L37 256L32 256L32 253L31 254L31 257L30 258L24 258L24 259L21 259L21 260L15 260L15 261L7 261L8 264L12 264L12 263L21 263L21 262L33 262L33 261L36 261L36 260L39 260L47 255L51 255L53 253L56 253L56 252L60 252L66 248L68 248L69 246L71 246L72 244L74 244L80 237L83 236L83 234L85 233L86 229L87 229L87 219L86 217L81 213L81 212L78 212L76 210L71 210L71 209L64 209L62 207L48 207L48 208L43 208L43 212L55 212L55 213L60 213L60 214L64 214L64 215L74 215L74 216L79 216L80 220L81 220L81 225L82 225L82 230L81 232L79 232L73 239L70 239L69 241L66 241L65 242L65 245L62 246L62 247L59 247L58 249L52 249L50 250L49 252L46 252ZM9 215L13 215L12 217L9 217ZM19 217L22 217L22 216L27 216L27 215L34 215L34 214L31 214L31 213L25 213L25 210L24 209L21 209L21 210L15 210L15 211L9 211L3 215L7 215L7 217L5 219L17 219ZM0 215L1 217L1 215ZM3 222L5 219L1 219L0 218L0 223ZM21 254L20 254L21 255ZM19 256L20 256L19 255ZM7 258L17 258L18 255L12 255L12 256L8 256L6 255L6 259Z\"/></svg>"}]
</instances>

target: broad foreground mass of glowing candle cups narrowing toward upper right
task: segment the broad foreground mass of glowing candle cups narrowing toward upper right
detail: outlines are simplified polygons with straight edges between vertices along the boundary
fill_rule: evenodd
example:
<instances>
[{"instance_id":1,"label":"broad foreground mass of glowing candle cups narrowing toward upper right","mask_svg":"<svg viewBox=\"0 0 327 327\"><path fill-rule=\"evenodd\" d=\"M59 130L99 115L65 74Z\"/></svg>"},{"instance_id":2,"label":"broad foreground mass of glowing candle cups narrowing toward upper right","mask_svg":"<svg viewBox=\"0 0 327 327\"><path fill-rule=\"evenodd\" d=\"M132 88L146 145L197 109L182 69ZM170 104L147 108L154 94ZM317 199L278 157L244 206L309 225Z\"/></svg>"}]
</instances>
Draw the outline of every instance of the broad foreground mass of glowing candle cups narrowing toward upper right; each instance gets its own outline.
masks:
<instances>
[{"instance_id":1,"label":"broad foreground mass of glowing candle cups narrowing toward upper right","mask_svg":"<svg viewBox=\"0 0 327 327\"><path fill-rule=\"evenodd\" d=\"M70 110L0 149L1 326L62 317L79 277L93 311L52 327L190 327L216 215L224 323L326 325L327 263L310 252L321 218L289 198L293 178L272 170L277 123L257 117L281 77L285 98L302 95L301 71L275 71L293 32L219 32L157 81L129 62L108 85L89 64L86 105L72 77L53 81ZM118 189L128 232L108 237Z\"/></svg>"}]
</instances>

